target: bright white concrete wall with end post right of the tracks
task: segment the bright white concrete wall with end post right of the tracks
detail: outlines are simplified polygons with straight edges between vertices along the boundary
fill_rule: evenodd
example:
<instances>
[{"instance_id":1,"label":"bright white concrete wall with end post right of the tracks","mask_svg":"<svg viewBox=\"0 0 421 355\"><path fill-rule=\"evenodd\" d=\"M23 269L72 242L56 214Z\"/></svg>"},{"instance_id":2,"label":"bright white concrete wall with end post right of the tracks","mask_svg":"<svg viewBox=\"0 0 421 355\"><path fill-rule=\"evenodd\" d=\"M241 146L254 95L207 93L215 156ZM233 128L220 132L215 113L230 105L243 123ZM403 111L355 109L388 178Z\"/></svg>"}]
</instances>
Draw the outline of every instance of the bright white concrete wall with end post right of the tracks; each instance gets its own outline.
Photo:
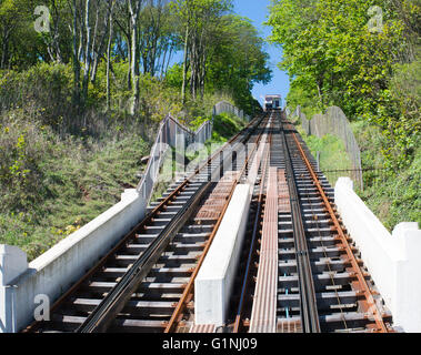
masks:
<instances>
[{"instance_id":1,"label":"bright white concrete wall with end post right of the tracks","mask_svg":"<svg viewBox=\"0 0 421 355\"><path fill-rule=\"evenodd\" d=\"M334 187L338 211L361 251L393 323L405 332L421 332L421 231L418 223L400 223L392 234L354 193L352 181L340 178Z\"/></svg>"}]
</instances>

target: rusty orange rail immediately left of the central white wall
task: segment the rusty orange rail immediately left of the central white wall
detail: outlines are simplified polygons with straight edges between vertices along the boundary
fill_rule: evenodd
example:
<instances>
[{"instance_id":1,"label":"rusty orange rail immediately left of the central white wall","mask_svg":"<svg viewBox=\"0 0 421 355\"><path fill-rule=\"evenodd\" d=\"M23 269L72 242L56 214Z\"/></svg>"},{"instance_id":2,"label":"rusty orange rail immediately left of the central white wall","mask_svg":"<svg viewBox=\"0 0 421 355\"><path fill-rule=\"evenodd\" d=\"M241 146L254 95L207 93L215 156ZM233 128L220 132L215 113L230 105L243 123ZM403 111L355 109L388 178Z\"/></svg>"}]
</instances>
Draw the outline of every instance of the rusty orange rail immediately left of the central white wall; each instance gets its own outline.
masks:
<instances>
[{"instance_id":1,"label":"rusty orange rail immediately left of the central white wall","mask_svg":"<svg viewBox=\"0 0 421 355\"><path fill-rule=\"evenodd\" d=\"M203 252L202 252L202 254L201 254L201 256L200 256L200 258L198 261L198 264L197 264L197 266L196 266L196 268L194 268L194 271L193 271L193 273L192 273L192 275L191 275L191 277L190 277L190 280L189 280L189 282L188 282L188 284L187 284L187 286L184 288L184 291L183 291L183 294L182 294L180 301L178 302L178 304L176 306L176 310L174 310L174 312L173 312L170 321L167 324L164 333L171 333L174 329L174 327L177 326L177 323L181 321L180 317L182 317L182 312L186 308L188 302L191 301L191 297L192 297L192 294L193 294L193 287L194 287L196 277L199 274L200 267L203 264L204 258L206 258L206 256L207 256L207 254L208 254L208 252L209 252L209 250L210 250L210 247L212 245L214 236L218 233L219 226L222 223L222 219L223 219L223 216L224 216L224 214L227 212L227 209L228 209L228 206L229 206L229 204L231 202L231 197L232 197L232 195L233 195L233 193L235 191L235 186L239 183L242 174L244 173L244 171L245 171L245 169L247 169L247 166L249 164L249 161L250 161L251 156L257 151L257 148L258 148L258 145L260 143L260 140L261 140L262 135L263 135L263 132L259 134L259 138L258 138L258 140L257 140L257 142L255 142L255 144L253 146L253 150L250 152L249 156L244 161L244 164L241 168L238 178L232 183L232 187L231 187L229 197L227 199L227 201L224 203L224 206L222 209L221 215L219 216L219 219L218 219L218 221L215 223L215 226L213 227L213 230L211 232L211 235L210 235L210 237L209 237L209 240L207 242L207 245L206 245L206 247L204 247L204 250L203 250Z\"/></svg>"}]
</instances>

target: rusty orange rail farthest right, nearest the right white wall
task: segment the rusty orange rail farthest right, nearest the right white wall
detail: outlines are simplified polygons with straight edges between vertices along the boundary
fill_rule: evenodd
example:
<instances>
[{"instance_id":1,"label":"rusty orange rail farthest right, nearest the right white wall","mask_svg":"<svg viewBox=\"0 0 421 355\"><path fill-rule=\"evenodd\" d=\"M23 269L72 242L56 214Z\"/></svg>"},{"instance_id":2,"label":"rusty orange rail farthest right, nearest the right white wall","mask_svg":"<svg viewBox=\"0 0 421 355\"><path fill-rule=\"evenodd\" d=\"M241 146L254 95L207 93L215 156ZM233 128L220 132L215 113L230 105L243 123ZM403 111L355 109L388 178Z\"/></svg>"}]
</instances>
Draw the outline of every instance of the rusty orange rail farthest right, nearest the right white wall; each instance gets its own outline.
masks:
<instances>
[{"instance_id":1,"label":"rusty orange rail farthest right, nearest the right white wall","mask_svg":"<svg viewBox=\"0 0 421 355\"><path fill-rule=\"evenodd\" d=\"M302 146L301 146L301 143L300 141L298 140L295 133L292 133L292 138L293 140L295 141L295 144L299 149L299 152L301 154L301 158L302 160L304 161L305 163L305 166L313 180L313 183L314 185L317 186L322 200L323 200L323 204L324 206L327 207L328 212L329 212L329 215L334 224L334 229L337 230L338 232L338 235L340 236L343 245L344 245L344 248L345 248L345 252L347 252L347 256L349 257L349 261L353 267L353 270L355 271L355 274L357 274L357 278L358 278L358 282L359 284L361 285L362 287L362 292L365 296L365 300L368 302L368 304L370 305L370 311L373 313L373 316L374 316L374 321L375 321L375 325L377 325L377 331L380 332L380 333L388 333L388 327L385 326L384 322L383 322L383 316L382 314L380 313L375 302L374 302L374 298L373 298L373 295L371 293L371 290L369 287L369 285L367 284L365 282L365 277L364 277L364 274L362 273L361 268L360 268L360 265L355 258L355 255L348 242L348 239L345 236L345 233L333 211L333 207L332 207L332 204L330 203L329 199L327 197L325 193L324 193L324 190L320 183L320 180L319 178L317 176L315 172L314 172L314 169L313 166L310 164L309 162L309 159L305 154L305 152L303 151Z\"/></svg>"}]
</instances>

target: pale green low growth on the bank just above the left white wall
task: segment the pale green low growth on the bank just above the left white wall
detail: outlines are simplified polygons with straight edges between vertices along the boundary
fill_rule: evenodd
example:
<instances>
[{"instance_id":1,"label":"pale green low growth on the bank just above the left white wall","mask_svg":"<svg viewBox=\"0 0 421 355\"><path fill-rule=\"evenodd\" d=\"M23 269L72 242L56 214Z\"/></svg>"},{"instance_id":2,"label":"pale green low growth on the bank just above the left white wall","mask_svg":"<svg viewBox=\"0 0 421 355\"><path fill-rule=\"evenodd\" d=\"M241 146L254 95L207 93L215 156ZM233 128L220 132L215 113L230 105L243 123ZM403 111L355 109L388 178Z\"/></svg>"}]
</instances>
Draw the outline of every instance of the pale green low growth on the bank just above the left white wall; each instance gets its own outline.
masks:
<instances>
[{"instance_id":1,"label":"pale green low growth on the bank just above the left white wall","mask_svg":"<svg viewBox=\"0 0 421 355\"><path fill-rule=\"evenodd\" d=\"M48 189L36 192L39 200L21 212L0 212L0 243L20 246L29 260L120 201L124 186L139 182L140 159L149 152L134 134L101 145L51 144L53 153L39 162L38 184Z\"/></svg>"}]
</instances>

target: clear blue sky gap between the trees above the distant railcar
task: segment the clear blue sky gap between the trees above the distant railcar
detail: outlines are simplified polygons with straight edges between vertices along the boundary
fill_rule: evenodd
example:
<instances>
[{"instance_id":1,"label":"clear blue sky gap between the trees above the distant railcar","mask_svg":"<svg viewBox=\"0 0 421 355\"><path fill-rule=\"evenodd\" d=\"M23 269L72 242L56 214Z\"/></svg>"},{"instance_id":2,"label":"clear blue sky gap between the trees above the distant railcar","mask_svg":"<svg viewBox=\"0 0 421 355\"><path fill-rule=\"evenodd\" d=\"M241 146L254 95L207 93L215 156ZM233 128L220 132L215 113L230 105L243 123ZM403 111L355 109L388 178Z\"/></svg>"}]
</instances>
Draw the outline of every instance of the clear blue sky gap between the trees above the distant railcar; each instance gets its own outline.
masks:
<instances>
[{"instance_id":1,"label":"clear blue sky gap between the trees above the distant railcar","mask_svg":"<svg viewBox=\"0 0 421 355\"><path fill-rule=\"evenodd\" d=\"M263 24L269 16L270 0L234 0L233 2L234 12L252 20L254 27L264 39L271 34L271 27ZM282 100L284 100L290 89L287 73L277 67L282 58L281 49L268 43L267 52L270 54L270 68L273 71L272 81L267 85L255 84L253 88L253 97L261 103L263 103L262 97L270 93L280 93Z\"/></svg>"}]
</instances>

